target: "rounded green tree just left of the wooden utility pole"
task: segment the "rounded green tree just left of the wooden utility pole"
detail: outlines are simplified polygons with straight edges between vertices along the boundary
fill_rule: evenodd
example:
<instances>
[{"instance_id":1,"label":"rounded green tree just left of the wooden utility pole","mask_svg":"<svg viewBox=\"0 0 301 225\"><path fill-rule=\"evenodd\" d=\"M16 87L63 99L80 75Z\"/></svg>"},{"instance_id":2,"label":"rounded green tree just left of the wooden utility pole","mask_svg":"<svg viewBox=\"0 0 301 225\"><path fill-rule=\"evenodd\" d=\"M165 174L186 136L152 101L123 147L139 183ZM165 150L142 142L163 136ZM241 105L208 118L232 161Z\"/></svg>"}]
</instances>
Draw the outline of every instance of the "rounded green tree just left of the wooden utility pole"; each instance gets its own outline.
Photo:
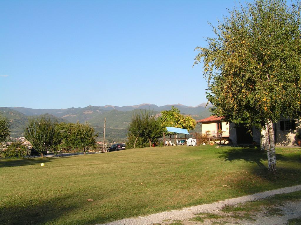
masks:
<instances>
[{"instance_id":1,"label":"rounded green tree just left of the wooden utility pole","mask_svg":"<svg viewBox=\"0 0 301 225\"><path fill-rule=\"evenodd\" d=\"M67 143L72 149L83 150L84 154L86 154L87 147L96 146L96 137L93 127L88 122L85 122L85 124L77 122L70 126Z\"/></svg>"}]
</instances>

